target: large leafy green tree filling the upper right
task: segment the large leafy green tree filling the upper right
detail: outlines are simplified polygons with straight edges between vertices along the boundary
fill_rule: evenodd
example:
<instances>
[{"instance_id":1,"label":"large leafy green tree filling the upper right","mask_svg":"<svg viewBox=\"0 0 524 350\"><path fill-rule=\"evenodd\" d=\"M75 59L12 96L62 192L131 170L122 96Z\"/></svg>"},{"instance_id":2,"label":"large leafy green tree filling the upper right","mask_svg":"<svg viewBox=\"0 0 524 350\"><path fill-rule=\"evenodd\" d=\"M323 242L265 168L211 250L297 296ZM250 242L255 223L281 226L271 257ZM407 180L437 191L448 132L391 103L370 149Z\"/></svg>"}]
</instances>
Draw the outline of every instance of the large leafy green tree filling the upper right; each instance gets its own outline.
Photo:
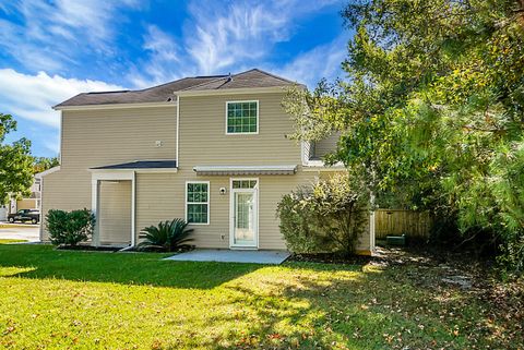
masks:
<instances>
[{"instance_id":1,"label":"large leafy green tree filling the upper right","mask_svg":"<svg viewBox=\"0 0 524 350\"><path fill-rule=\"evenodd\" d=\"M488 232L503 245L520 240L524 258L523 5L348 4L349 79L288 94L294 136L342 131L327 160L361 169L374 191L438 210L464 233ZM300 98L309 105L302 112Z\"/></svg>"}]
</instances>

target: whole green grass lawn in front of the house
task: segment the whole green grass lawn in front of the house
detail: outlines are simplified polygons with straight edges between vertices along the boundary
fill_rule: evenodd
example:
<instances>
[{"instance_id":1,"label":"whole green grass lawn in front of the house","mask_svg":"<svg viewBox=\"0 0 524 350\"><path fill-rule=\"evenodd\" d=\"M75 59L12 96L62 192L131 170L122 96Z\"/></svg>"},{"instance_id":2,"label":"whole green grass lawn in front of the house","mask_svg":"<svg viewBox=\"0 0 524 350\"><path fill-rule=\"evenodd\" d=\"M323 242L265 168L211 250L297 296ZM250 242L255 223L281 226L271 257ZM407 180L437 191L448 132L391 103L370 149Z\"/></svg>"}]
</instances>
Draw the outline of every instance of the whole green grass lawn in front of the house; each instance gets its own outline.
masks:
<instances>
[{"instance_id":1,"label":"whole green grass lawn in front of the house","mask_svg":"<svg viewBox=\"0 0 524 350\"><path fill-rule=\"evenodd\" d=\"M431 267L162 256L0 245L0 348L522 349L515 321Z\"/></svg>"}]
</instances>

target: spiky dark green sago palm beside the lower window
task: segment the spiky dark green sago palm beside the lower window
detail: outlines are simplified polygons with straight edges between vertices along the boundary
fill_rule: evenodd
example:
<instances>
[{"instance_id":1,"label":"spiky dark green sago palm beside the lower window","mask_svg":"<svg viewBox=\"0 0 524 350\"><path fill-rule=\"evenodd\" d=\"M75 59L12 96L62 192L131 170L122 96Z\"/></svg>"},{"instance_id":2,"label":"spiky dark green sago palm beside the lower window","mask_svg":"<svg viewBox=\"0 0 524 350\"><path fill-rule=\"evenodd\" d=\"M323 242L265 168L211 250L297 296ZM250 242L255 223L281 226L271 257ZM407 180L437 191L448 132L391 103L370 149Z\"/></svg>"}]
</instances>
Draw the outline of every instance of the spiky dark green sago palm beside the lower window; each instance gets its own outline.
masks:
<instances>
[{"instance_id":1,"label":"spiky dark green sago palm beside the lower window","mask_svg":"<svg viewBox=\"0 0 524 350\"><path fill-rule=\"evenodd\" d=\"M140 238L144 239L139 243L140 251L167 251L174 252L188 249L187 244L193 239L189 236L193 229L188 229L188 222L182 219L160 221L158 226L150 226L142 230Z\"/></svg>"}]
</instances>

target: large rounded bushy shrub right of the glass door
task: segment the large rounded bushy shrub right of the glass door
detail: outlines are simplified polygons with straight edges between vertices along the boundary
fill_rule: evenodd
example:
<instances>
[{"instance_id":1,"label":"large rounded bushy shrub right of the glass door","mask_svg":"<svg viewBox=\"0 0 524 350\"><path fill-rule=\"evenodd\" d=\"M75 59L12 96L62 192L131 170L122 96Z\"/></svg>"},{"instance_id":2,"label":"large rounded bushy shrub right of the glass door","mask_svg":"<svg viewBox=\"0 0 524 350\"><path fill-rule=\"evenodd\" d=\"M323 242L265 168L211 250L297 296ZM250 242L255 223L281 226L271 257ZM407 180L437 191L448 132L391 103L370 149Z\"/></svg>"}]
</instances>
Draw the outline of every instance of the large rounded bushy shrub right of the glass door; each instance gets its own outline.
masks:
<instances>
[{"instance_id":1,"label":"large rounded bushy shrub right of the glass door","mask_svg":"<svg viewBox=\"0 0 524 350\"><path fill-rule=\"evenodd\" d=\"M285 195L277 216L291 252L349 255L368 228L369 195L347 174L335 174Z\"/></svg>"}]
</instances>

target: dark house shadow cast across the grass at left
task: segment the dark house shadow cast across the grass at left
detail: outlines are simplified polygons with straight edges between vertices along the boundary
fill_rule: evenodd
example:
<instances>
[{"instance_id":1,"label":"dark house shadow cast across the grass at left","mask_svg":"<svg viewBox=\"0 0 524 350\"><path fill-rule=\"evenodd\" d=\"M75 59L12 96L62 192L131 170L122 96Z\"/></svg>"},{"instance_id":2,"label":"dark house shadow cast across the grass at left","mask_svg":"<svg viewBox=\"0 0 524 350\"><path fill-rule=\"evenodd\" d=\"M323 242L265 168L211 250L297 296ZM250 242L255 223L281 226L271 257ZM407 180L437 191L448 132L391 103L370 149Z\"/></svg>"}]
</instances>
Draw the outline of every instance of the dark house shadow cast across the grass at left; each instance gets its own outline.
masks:
<instances>
[{"instance_id":1,"label":"dark house shadow cast across the grass at left","mask_svg":"<svg viewBox=\"0 0 524 350\"><path fill-rule=\"evenodd\" d=\"M261 267L162 260L169 255L172 254L68 252L49 245L0 244L0 277L211 289Z\"/></svg>"}]
</instances>

